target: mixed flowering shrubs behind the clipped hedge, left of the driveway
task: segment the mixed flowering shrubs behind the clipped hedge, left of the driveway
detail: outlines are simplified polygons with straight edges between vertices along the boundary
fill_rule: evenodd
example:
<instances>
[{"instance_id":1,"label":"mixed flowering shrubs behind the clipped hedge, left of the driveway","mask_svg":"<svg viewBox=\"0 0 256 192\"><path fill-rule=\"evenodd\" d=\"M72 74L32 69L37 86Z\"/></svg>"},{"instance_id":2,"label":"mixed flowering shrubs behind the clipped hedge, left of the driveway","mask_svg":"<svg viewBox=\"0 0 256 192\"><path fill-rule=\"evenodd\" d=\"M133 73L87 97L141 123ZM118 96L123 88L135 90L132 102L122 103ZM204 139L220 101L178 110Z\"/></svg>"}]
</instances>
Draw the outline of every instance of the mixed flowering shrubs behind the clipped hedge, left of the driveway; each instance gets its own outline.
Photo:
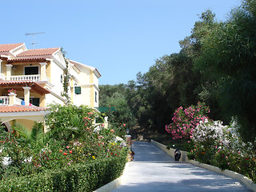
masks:
<instances>
[{"instance_id":1,"label":"mixed flowering shrubs behind the clipped hedge, left of the driveway","mask_svg":"<svg viewBox=\"0 0 256 192\"><path fill-rule=\"evenodd\" d=\"M63 114L60 114L60 117L56 116L56 113L61 112ZM120 157L126 159L127 149L121 142L115 140L114 131L94 129L95 115L94 111L86 109L85 106L74 107L74 110L70 106L67 106L67 109L64 106L60 108L55 106L47 117L50 121L48 124L50 130L42 138L42 146L38 147L33 147L28 142L26 138L28 134L22 134L22 129L19 130L18 135L15 131L2 130L0 160L8 157L10 163L8 166L2 166L0 161L0 178L6 181L8 178L39 174L48 170L57 172L63 168L68 170L68 167L101 159ZM58 133L60 130L62 131Z\"/></svg>"}]
</instances>

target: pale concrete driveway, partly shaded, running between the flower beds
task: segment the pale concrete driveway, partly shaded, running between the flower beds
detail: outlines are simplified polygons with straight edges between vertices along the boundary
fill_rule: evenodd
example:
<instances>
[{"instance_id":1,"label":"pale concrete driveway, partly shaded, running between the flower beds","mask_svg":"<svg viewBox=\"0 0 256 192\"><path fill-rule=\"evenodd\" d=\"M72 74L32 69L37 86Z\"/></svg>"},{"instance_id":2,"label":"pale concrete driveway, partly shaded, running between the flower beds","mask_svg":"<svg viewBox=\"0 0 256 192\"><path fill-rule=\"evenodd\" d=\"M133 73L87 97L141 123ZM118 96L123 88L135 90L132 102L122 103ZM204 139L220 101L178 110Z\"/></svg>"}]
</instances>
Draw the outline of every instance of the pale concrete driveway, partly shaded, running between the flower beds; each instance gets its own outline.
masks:
<instances>
[{"instance_id":1,"label":"pale concrete driveway, partly shaded, running between the flower beds","mask_svg":"<svg viewBox=\"0 0 256 192\"><path fill-rule=\"evenodd\" d=\"M112 192L251 191L233 178L185 162L174 162L149 142L134 142L134 162Z\"/></svg>"}]
</instances>

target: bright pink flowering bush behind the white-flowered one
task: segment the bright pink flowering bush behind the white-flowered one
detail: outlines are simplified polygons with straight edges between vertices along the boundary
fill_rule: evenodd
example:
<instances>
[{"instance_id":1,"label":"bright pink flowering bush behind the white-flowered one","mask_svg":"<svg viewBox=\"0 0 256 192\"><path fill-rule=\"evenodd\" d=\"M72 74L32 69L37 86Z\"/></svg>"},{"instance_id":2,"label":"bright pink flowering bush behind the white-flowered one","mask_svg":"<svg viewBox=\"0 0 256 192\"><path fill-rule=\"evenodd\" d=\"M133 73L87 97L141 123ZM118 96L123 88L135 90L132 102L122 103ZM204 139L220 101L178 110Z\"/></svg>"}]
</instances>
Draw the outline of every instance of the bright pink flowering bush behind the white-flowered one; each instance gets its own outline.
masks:
<instances>
[{"instance_id":1,"label":"bright pink flowering bush behind the white-flowered one","mask_svg":"<svg viewBox=\"0 0 256 192\"><path fill-rule=\"evenodd\" d=\"M209 119L207 113L210 113L210 110L205 103L198 102L198 106L190 106L185 110L180 106L174 112L173 122L166 125L166 131L172 134L174 139L191 138L199 122Z\"/></svg>"}]
</instances>

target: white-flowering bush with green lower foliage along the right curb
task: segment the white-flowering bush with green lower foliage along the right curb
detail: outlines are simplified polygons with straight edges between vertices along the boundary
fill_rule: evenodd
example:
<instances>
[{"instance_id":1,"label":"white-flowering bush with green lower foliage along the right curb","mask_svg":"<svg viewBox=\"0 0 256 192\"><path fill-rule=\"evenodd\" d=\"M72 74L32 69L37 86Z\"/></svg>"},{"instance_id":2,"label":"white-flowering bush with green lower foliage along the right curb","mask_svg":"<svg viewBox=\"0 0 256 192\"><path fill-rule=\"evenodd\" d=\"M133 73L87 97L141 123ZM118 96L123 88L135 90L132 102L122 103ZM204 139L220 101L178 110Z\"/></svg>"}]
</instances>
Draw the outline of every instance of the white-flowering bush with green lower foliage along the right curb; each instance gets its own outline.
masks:
<instances>
[{"instance_id":1,"label":"white-flowering bush with green lower foliage along the right curb","mask_svg":"<svg viewBox=\"0 0 256 192\"><path fill-rule=\"evenodd\" d=\"M222 170L234 170L256 182L256 141L242 142L236 121L223 126L220 121L200 122L192 136L194 149L189 158L218 166Z\"/></svg>"}]
</instances>

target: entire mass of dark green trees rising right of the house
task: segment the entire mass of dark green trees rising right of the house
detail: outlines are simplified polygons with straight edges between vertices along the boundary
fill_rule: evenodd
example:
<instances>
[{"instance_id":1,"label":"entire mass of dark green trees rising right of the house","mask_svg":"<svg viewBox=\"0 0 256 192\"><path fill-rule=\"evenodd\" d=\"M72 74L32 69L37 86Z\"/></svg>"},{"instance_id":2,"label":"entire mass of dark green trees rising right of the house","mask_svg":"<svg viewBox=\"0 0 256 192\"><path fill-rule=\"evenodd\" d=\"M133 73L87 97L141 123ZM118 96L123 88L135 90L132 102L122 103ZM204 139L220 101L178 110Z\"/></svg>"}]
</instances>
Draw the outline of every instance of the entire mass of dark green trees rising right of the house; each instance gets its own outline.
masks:
<instances>
[{"instance_id":1,"label":"entire mass of dark green trees rising right of the house","mask_svg":"<svg viewBox=\"0 0 256 192\"><path fill-rule=\"evenodd\" d=\"M210 118L236 118L245 141L256 138L256 1L244 0L221 22L210 10L180 42L179 53L158 58L126 85L100 86L100 106L119 122L166 133L179 107L210 106Z\"/></svg>"}]
</instances>

